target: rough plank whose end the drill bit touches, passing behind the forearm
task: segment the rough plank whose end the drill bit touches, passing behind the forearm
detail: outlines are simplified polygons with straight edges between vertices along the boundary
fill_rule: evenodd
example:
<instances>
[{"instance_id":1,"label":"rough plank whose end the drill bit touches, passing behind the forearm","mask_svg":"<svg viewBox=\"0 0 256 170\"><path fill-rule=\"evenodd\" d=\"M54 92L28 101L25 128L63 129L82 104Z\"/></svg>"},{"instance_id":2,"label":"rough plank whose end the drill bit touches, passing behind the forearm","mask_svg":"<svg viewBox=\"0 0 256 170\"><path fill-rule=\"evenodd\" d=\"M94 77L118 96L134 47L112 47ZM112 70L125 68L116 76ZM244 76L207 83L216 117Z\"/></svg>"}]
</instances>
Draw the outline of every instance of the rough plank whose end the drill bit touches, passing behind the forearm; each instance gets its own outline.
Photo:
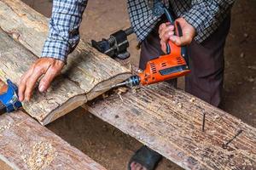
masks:
<instances>
[{"instance_id":1,"label":"rough plank whose end the drill bit touches, passing behind the forearm","mask_svg":"<svg viewBox=\"0 0 256 170\"><path fill-rule=\"evenodd\" d=\"M48 19L42 14L20 0L1 0L0 27L33 54L40 56L48 35ZM131 71L83 41L69 55L64 73L84 89L89 100L104 93L96 89L122 82L131 75Z\"/></svg>"}]
</instances>

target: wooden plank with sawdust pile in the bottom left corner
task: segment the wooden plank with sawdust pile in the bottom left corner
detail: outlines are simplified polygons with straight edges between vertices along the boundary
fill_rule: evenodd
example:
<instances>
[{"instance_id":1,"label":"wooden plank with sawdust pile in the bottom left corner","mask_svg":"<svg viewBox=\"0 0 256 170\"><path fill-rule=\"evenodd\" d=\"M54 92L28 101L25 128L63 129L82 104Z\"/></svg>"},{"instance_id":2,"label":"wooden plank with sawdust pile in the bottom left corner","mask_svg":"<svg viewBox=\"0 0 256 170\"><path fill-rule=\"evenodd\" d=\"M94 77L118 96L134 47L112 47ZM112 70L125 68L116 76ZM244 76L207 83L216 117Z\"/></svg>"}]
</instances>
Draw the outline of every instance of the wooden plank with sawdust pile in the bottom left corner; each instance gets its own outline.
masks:
<instances>
[{"instance_id":1,"label":"wooden plank with sawdust pile in the bottom left corner","mask_svg":"<svg viewBox=\"0 0 256 170\"><path fill-rule=\"evenodd\" d=\"M0 116L0 160L9 169L105 169L21 111Z\"/></svg>"}]
</instances>

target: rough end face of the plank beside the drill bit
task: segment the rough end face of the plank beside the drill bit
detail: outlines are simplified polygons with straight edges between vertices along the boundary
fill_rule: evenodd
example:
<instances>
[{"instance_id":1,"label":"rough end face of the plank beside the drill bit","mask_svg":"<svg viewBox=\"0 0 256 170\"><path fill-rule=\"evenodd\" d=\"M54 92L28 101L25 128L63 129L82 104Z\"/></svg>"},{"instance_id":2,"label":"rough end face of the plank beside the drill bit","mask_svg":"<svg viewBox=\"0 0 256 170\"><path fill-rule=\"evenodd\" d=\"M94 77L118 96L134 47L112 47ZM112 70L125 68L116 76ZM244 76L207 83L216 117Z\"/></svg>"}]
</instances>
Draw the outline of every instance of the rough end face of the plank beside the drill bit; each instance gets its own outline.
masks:
<instances>
[{"instance_id":1,"label":"rough end face of the plank beside the drill bit","mask_svg":"<svg viewBox=\"0 0 256 170\"><path fill-rule=\"evenodd\" d=\"M96 97L98 97L101 94L104 94L105 92L107 92L111 86L119 83L119 82L124 82L125 79L131 77L131 72L125 72L119 75L116 75L115 77L111 77L108 80L104 80L102 82L99 82L96 84L96 86L94 88L92 88L87 94L87 99L91 100L91 99L95 99ZM106 88L109 87L109 88ZM97 91L100 90L102 88L106 88L104 90L101 91ZM84 102L85 103L85 102Z\"/></svg>"}]
</instances>

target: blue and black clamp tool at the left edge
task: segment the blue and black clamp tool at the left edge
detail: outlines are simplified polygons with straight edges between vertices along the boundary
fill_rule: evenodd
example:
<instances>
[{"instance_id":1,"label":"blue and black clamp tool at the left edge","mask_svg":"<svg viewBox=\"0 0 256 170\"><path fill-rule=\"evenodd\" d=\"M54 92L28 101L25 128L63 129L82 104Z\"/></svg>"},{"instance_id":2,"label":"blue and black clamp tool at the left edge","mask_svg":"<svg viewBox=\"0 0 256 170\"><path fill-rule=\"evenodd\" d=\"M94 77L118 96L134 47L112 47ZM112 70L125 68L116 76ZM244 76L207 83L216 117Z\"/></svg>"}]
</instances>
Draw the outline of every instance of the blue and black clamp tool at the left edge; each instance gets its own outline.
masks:
<instances>
[{"instance_id":1,"label":"blue and black clamp tool at the left edge","mask_svg":"<svg viewBox=\"0 0 256 170\"><path fill-rule=\"evenodd\" d=\"M7 85L7 92L0 94L0 113L16 111L22 106L18 98L18 88L15 83L7 80Z\"/></svg>"}]
</instances>

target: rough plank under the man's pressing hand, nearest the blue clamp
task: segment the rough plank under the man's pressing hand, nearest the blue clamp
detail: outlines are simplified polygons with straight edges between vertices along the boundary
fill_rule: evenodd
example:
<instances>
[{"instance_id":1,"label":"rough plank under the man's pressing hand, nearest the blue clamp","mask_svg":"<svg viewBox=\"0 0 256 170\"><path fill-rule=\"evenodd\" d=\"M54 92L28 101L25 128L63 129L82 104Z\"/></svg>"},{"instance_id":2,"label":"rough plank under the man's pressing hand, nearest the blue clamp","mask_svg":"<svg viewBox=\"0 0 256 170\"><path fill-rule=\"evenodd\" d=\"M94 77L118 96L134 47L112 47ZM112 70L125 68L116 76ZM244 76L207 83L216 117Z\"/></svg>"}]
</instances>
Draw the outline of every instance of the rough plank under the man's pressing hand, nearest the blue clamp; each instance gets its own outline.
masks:
<instances>
[{"instance_id":1,"label":"rough plank under the man's pressing hand, nearest the blue clamp","mask_svg":"<svg viewBox=\"0 0 256 170\"><path fill-rule=\"evenodd\" d=\"M16 84L37 57L15 42L0 29L0 78L11 79ZM59 77L45 94L38 90L32 101L23 103L24 109L42 124L47 124L84 104L84 90L74 82Z\"/></svg>"}]
</instances>

